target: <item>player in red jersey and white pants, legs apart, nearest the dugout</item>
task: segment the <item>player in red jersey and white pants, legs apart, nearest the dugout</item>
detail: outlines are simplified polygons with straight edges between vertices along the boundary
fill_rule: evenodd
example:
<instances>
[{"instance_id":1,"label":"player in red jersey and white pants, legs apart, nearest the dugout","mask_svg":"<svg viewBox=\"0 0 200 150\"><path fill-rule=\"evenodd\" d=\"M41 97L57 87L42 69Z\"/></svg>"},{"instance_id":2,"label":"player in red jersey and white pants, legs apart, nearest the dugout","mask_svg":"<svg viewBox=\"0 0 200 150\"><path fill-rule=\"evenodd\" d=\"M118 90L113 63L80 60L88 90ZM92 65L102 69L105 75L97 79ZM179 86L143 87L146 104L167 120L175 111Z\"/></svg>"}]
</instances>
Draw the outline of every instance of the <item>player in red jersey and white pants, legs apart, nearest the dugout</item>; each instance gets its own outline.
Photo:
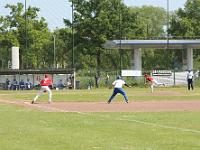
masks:
<instances>
[{"instance_id":1,"label":"player in red jersey and white pants, legs apart, nearest the dugout","mask_svg":"<svg viewBox=\"0 0 200 150\"><path fill-rule=\"evenodd\" d=\"M34 98L34 100L31 102L32 104L34 104L36 102L36 100L44 93L47 92L49 95L49 100L48 102L51 103L51 99L52 99L52 92L51 89L49 88L49 86L52 85L52 81L51 79L49 79L49 77L45 74L44 79L42 79L40 81L40 86L41 89L38 92L38 94L36 95L36 97Z\"/></svg>"}]
</instances>

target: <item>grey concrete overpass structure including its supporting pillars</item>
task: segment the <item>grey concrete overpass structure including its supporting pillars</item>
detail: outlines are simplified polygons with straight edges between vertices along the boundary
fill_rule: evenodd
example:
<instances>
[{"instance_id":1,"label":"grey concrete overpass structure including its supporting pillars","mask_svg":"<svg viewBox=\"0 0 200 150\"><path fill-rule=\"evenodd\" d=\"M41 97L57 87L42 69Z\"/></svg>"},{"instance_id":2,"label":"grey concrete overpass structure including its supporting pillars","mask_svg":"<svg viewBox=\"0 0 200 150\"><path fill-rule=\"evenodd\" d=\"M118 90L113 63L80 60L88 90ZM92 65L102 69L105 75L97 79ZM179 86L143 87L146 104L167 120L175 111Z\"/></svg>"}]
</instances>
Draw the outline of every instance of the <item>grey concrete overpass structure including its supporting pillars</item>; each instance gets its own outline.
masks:
<instances>
[{"instance_id":1,"label":"grey concrete overpass structure including its supporting pillars","mask_svg":"<svg viewBox=\"0 0 200 150\"><path fill-rule=\"evenodd\" d=\"M131 69L142 70L141 49L186 49L187 68L193 69L193 49L200 49L200 39L197 40L112 40L104 45L106 49L132 49Z\"/></svg>"}]
</instances>

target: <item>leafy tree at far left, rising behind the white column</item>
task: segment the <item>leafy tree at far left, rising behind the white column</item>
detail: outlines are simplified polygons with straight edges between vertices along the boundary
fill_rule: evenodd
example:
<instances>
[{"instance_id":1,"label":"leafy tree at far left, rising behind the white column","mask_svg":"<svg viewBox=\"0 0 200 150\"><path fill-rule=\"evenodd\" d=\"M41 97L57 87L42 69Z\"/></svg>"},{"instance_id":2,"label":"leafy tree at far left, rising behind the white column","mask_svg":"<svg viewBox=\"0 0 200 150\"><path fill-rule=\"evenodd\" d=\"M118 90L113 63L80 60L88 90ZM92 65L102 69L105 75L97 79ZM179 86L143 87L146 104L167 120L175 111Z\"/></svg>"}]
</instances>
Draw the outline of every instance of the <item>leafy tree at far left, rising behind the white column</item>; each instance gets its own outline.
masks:
<instances>
[{"instance_id":1,"label":"leafy tree at far left, rising behind the white column","mask_svg":"<svg viewBox=\"0 0 200 150\"><path fill-rule=\"evenodd\" d=\"M38 18L39 8L29 6L24 12L22 3L7 4L5 8L10 9L10 15L3 17L3 39L9 41L9 48L20 47L21 68L40 67L44 60L41 55L48 51L43 46L49 40L50 32L45 19Z\"/></svg>"}]
</instances>

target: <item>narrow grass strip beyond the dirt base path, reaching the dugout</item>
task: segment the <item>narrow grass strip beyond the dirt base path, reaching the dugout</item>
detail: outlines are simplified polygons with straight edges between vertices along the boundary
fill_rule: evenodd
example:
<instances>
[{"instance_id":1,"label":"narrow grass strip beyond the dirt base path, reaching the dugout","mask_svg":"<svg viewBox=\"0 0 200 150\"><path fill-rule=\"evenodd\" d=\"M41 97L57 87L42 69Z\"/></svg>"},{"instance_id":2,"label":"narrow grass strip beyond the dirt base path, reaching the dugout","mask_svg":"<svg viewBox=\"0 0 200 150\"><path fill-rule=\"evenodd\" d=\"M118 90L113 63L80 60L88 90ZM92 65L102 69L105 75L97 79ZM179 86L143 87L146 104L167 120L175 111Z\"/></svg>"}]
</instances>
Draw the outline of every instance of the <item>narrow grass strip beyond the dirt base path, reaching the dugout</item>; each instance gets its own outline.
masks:
<instances>
[{"instance_id":1,"label":"narrow grass strip beyond the dirt base path, reaching the dugout","mask_svg":"<svg viewBox=\"0 0 200 150\"><path fill-rule=\"evenodd\" d=\"M53 91L53 101L107 101L111 96L113 89L93 89L93 90L62 90ZM186 87L182 88L155 88L154 93L149 88L126 88L129 101L176 101L176 100L199 100L200 88L194 91L188 91ZM31 101L38 91L0 91L0 96L10 100ZM47 94L39 98L39 101L46 101ZM115 101L122 101L123 97L117 95Z\"/></svg>"}]
</instances>

